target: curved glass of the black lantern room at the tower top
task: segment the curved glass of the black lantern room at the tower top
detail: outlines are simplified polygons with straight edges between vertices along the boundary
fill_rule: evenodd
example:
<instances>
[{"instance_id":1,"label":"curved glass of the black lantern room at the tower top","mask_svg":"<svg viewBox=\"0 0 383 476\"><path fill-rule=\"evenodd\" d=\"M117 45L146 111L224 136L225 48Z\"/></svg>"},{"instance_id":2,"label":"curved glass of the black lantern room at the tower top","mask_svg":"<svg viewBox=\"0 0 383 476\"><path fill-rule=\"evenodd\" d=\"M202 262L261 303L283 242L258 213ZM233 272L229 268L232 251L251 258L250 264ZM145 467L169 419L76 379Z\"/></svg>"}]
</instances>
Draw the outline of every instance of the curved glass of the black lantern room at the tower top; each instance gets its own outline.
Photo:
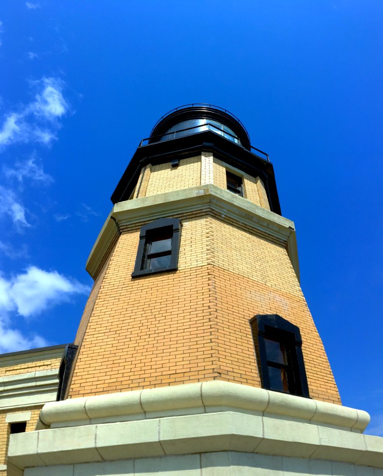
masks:
<instances>
[{"instance_id":1,"label":"curved glass of the black lantern room at the tower top","mask_svg":"<svg viewBox=\"0 0 383 476\"><path fill-rule=\"evenodd\" d=\"M231 142L241 144L241 141L234 134L234 132L229 127L227 127L227 125L224 125L217 120L207 118L189 119L178 122L178 124L173 125L165 132L160 141L184 137L185 135L197 134L198 132L203 132L204 130L212 130L216 134L222 135L226 139L231 140Z\"/></svg>"}]
</instances>

